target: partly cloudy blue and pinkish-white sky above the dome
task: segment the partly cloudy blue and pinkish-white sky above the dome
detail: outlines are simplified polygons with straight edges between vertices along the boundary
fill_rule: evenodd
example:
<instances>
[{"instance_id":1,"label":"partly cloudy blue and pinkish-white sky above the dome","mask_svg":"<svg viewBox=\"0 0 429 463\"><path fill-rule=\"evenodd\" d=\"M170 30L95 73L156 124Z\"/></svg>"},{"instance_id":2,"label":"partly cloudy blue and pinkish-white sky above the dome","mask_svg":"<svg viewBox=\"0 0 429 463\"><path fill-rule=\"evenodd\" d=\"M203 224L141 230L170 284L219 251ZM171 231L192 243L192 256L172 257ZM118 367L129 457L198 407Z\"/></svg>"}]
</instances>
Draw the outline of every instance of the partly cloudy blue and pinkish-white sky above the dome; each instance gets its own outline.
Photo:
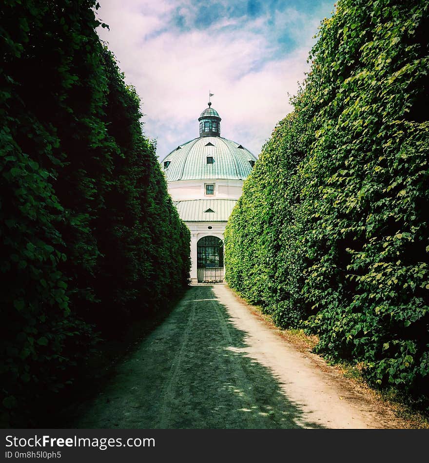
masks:
<instances>
[{"instance_id":1,"label":"partly cloudy blue and pinkish-white sky above the dome","mask_svg":"<svg viewBox=\"0 0 429 463\"><path fill-rule=\"evenodd\" d=\"M142 101L157 155L199 136L212 108L221 136L255 155L292 111L320 22L334 0L98 0L98 35Z\"/></svg>"}]
</instances>

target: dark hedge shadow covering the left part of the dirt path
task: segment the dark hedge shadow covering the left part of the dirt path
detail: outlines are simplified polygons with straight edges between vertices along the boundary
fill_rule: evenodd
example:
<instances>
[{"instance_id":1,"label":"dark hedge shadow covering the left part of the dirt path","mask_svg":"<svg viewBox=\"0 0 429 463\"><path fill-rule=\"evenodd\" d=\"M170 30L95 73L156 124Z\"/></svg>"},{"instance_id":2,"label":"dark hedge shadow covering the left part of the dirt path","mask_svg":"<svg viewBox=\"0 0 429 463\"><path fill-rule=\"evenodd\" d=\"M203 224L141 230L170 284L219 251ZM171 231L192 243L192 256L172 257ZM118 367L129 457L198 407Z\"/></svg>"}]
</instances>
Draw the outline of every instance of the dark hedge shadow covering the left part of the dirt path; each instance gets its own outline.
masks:
<instances>
[{"instance_id":1,"label":"dark hedge shadow covering the left part of the dirt path","mask_svg":"<svg viewBox=\"0 0 429 463\"><path fill-rule=\"evenodd\" d=\"M272 372L246 355L213 287L192 287L71 418L77 428L319 428Z\"/></svg>"}]
</instances>

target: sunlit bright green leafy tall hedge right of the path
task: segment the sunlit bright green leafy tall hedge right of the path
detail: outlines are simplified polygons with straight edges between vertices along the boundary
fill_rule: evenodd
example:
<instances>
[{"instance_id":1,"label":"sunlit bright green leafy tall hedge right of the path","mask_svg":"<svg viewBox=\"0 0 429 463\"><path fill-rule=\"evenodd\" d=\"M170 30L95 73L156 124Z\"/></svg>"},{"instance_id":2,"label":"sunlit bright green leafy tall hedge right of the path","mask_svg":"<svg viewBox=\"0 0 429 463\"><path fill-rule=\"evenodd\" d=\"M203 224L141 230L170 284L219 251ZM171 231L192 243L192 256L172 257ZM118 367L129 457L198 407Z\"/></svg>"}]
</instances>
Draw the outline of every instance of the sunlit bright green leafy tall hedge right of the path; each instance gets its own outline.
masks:
<instances>
[{"instance_id":1,"label":"sunlit bright green leafy tall hedge right of the path","mask_svg":"<svg viewBox=\"0 0 429 463\"><path fill-rule=\"evenodd\" d=\"M429 384L428 9L338 1L225 233L233 288L415 394Z\"/></svg>"}]
</instances>

